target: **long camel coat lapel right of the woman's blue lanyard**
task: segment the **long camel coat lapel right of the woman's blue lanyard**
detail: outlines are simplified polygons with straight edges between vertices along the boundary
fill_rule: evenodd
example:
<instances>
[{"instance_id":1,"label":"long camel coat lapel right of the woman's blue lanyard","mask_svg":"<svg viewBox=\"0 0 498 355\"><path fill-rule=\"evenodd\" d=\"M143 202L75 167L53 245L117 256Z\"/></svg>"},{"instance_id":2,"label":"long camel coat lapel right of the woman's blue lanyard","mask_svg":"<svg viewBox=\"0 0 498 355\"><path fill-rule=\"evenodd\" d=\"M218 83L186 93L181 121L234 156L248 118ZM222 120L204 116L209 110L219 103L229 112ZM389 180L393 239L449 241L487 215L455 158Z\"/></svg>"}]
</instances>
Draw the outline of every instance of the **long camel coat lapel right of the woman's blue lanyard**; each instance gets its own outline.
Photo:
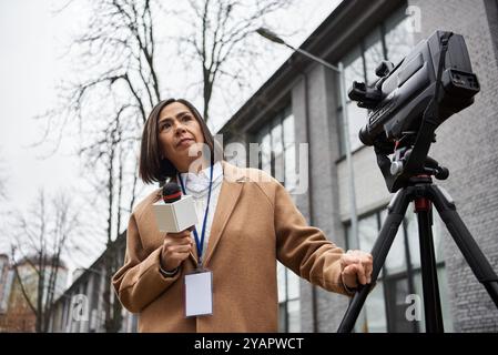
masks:
<instances>
[{"instance_id":1,"label":"long camel coat lapel right of the woman's blue lanyard","mask_svg":"<svg viewBox=\"0 0 498 355\"><path fill-rule=\"evenodd\" d=\"M238 202L243 182L245 181L245 176L241 174L241 171L226 162L223 162L223 183L217 199L213 224L211 226L204 265L210 262L211 256L223 235L223 231L226 227L230 216Z\"/></svg>"}]
</instances>

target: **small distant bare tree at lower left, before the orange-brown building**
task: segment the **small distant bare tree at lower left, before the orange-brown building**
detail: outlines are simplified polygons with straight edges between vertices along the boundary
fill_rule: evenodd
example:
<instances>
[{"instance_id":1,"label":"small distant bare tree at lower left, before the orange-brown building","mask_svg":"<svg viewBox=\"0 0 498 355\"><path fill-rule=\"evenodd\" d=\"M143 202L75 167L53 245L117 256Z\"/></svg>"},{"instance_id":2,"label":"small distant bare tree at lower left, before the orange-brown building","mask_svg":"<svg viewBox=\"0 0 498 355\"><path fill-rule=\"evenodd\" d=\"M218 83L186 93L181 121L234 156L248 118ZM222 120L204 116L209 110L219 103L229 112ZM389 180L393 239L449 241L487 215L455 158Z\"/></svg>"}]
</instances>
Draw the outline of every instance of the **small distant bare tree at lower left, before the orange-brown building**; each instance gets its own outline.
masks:
<instances>
[{"instance_id":1,"label":"small distant bare tree at lower left, before the orange-brown building","mask_svg":"<svg viewBox=\"0 0 498 355\"><path fill-rule=\"evenodd\" d=\"M70 197L59 194L47 203L42 190L32 209L16 217L12 264L22 295L35 316L37 332L49 328L52 305L62 292L61 285L58 290L62 253L78 227L78 214Z\"/></svg>"}]
</instances>

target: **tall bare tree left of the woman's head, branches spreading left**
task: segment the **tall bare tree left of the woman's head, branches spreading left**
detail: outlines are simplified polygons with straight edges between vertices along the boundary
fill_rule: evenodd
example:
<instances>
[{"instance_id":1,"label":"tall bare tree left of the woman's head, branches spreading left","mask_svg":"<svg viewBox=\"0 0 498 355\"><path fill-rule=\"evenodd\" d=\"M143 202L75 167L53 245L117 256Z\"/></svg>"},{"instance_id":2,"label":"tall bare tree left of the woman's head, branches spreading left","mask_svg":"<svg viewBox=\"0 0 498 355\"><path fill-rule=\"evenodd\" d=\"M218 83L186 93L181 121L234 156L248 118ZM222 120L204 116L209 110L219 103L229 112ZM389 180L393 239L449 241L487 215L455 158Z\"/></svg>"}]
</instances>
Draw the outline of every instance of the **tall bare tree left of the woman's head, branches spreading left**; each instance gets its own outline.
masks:
<instances>
[{"instance_id":1,"label":"tall bare tree left of the woman's head, branches spreading left","mask_svg":"<svg viewBox=\"0 0 498 355\"><path fill-rule=\"evenodd\" d=\"M71 132L80 136L80 154L87 162L106 160L103 149L119 124L121 134L113 144L123 150L136 150L146 114L160 100L154 67L154 2L87 1L90 6L88 26L68 49L70 58L74 59L74 72L85 74L60 84L60 104L38 118L45 123L40 144L51 139L57 150L61 138ZM136 162L121 169L123 175L135 175ZM133 180L132 201L135 191L136 180Z\"/></svg>"}]
</instances>

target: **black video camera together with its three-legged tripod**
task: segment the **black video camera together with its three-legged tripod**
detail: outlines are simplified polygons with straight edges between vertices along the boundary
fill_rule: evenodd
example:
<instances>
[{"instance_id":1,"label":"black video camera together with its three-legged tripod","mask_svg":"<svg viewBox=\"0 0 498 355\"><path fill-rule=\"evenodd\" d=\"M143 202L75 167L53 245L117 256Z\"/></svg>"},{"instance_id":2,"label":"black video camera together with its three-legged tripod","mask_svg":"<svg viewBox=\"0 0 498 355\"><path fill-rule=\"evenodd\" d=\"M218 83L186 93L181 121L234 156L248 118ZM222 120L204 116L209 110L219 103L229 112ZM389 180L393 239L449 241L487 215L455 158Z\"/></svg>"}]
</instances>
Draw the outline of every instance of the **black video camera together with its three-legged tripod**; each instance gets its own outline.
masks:
<instances>
[{"instance_id":1,"label":"black video camera together with its three-legged tripod","mask_svg":"<svg viewBox=\"0 0 498 355\"><path fill-rule=\"evenodd\" d=\"M355 82L349 98L369 109L368 124L359 132L366 145L374 145L390 200L377 240L372 248L372 281L359 285L349 302L339 333L352 332L368 293L382 271L408 205L414 202L424 292L425 328L444 332L436 255L433 241L433 204L476 278L498 307L498 276L457 213L453 199L433 183L447 179L449 171L427 155L435 131L451 114L469 106L479 92L464 38L437 31L420 42L396 68L383 62L373 85ZM344 78L344 77L343 77ZM471 124L471 123L469 123ZM389 155L393 154L392 158Z\"/></svg>"}]
</instances>

